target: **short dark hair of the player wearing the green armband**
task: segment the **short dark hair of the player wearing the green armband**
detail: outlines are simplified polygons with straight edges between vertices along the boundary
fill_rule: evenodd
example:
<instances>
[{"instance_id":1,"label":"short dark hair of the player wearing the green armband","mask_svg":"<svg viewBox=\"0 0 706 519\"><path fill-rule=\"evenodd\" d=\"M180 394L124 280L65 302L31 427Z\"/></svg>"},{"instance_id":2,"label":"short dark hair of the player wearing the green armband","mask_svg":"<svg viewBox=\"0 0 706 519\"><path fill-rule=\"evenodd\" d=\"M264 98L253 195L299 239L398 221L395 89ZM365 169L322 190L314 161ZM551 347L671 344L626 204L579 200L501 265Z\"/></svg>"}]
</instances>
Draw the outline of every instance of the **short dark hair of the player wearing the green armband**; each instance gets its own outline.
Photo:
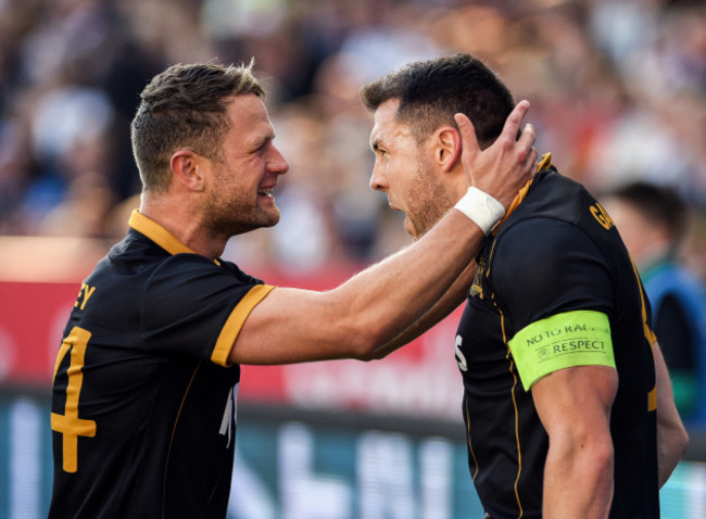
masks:
<instances>
[{"instance_id":1,"label":"short dark hair of the player wearing the green armband","mask_svg":"<svg viewBox=\"0 0 706 519\"><path fill-rule=\"evenodd\" d=\"M470 118L479 145L492 144L515 107L513 94L493 71L469 54L411 63L363 86L361 100L376 111L400 100L398 121L409 124L418 142L462 112Z\"/></svg>"}]
</instances>

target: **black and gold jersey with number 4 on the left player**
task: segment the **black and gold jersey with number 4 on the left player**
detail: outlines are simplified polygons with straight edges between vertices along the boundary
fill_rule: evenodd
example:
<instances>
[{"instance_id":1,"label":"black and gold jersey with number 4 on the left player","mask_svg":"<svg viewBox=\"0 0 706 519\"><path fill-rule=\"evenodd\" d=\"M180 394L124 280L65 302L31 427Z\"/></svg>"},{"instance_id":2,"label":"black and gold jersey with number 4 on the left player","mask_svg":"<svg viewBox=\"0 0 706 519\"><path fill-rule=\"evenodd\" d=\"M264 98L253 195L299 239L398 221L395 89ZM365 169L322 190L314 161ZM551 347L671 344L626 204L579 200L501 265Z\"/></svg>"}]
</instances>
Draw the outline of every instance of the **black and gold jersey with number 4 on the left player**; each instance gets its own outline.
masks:
<instances>
[{"instance_id":1,"label":"black and gold jersey with number 4 on the left player","mask_svg":"<svg viewBox=\"0 0 706 519\"><path fill-rule=\"evenodd\" d=\"M225 517L240 380L228 354L272 288L133 213L58 354L51 518Z\"/></svg>"}]
</instances>

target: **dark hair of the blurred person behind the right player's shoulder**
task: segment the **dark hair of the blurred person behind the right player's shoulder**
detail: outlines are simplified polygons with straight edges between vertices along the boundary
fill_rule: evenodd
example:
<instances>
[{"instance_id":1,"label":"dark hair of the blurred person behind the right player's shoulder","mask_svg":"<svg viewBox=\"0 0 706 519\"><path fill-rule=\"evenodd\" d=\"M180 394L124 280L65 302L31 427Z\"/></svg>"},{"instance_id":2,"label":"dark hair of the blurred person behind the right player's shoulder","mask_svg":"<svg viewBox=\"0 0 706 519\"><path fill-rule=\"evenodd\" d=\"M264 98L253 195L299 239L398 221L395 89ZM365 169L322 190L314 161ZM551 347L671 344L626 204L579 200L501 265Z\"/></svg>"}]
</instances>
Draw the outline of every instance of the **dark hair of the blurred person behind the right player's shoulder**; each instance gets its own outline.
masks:
<instances>
[{"instance_id":1,"label":"dark hair of the blurred person behind the right player's shoulder","mask_svg":"<svg viewBox=\"0 0 706 519\"><path fill-rule=\"evenodd\" d=\"M617 188L609 195L629 203L648 221L661 225L675 241L683 238L690 212L676 189L634 181Z\"/></svg>"}]
</instances>

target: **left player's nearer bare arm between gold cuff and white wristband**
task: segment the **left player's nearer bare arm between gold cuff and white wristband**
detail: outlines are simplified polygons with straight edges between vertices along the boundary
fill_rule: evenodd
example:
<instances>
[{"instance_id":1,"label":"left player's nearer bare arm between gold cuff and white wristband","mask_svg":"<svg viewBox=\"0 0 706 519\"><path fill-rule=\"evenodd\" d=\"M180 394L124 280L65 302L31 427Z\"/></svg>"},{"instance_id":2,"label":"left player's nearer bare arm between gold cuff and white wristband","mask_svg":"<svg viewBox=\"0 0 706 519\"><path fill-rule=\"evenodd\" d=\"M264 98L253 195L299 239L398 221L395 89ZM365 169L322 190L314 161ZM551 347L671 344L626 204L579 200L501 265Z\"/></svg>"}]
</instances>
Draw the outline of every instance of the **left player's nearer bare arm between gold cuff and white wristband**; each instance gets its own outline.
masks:
<instances>
[{"instance_id":1,"label":"left player's nearer bare arm between gold cuff and white wristband","mask_svg":"<svg viewBox=\"0 0 706 519\"><path fill-rule=\"evenodd\" d=\"M476 224L452 210L419 241L333 290L275 289L245 320L230 360L369 358L431 308L483 239Z\"/></svg>"}]
</instances>

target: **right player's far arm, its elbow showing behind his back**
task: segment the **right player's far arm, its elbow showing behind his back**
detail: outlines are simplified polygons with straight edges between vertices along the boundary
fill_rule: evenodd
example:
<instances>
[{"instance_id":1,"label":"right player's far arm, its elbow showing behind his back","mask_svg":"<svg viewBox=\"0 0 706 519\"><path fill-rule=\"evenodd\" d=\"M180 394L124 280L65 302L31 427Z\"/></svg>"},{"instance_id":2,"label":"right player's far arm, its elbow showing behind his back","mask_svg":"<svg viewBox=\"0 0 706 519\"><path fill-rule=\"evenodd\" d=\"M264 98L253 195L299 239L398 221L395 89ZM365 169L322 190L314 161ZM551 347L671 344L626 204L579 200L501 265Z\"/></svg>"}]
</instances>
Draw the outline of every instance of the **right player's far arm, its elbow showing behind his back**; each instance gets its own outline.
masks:
<instances>
[{"instance_id":1,"label":"right player's far arm, its elbow showing behind his back","mask_svg":"<svg viewBox=\"0 0 706 519\"><path fill-rule=\"evenodd\" d=\"M689 434L675 405L669 372L657 342L653 345L657 381L657 464L664 485L689 446Z\"/></svg>"}]
</instances>

